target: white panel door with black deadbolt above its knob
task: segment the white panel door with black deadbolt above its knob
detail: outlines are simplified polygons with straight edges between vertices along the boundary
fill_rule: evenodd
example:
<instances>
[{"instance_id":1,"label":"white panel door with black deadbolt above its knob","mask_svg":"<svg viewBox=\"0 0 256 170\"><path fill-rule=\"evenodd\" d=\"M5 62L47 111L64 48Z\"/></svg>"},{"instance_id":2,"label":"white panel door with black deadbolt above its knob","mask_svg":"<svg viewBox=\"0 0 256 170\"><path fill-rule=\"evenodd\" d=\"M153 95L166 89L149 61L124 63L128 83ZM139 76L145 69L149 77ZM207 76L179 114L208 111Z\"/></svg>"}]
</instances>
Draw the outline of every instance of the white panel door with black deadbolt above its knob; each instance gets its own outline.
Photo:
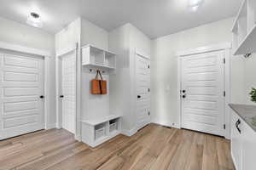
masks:
<instances>
[{"instance_id":1,"label":"white panel door with black deadbolt above its knob","mask_svg":"<svg viewBox=\"0 0 256 170\"><path fill-rule=\"evenodd\" d=\"M182 59L182 127L224 135L224 51Z\"/></svg>"}]
</instances>

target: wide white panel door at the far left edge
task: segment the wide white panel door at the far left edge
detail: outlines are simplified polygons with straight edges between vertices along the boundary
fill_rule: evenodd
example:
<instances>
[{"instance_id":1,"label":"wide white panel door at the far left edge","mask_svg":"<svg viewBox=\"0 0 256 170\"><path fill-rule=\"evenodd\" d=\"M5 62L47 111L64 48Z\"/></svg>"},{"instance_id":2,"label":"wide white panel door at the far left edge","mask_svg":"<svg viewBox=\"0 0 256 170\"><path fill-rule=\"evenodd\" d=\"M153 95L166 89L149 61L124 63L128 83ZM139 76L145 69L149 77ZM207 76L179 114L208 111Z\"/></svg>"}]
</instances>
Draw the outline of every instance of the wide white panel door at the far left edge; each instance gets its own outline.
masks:
<instances>
[{"instance_id":1,"label":"wide white panel door at the far left edge","mask_svg":"<svg viewBox=\"0 0 256 170\"><path fill-rule=\"evenodd\" d=\"M0 139L44 128L44 59L0 51Z\"/></svg>"}]
</instances>

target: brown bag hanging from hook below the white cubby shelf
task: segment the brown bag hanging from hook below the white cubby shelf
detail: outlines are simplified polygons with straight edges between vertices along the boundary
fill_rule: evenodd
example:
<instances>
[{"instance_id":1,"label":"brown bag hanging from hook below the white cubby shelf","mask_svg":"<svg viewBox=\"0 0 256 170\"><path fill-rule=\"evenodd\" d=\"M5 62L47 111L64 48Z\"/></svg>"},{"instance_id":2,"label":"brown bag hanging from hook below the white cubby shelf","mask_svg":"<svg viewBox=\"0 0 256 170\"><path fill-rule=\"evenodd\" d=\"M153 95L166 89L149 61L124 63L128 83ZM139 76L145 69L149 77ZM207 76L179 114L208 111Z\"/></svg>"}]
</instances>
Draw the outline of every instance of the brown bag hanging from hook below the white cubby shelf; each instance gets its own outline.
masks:
<instances>
[{"instance_id":1,"label":"brown bag hanging from hook below the white cubby shelf","mask_svg":"<svg viewBox=\"0 0 256 170\"><path fill-rule=\"evenodd\" d=\"M91 94L107 94L107 81L103 80L101 71L96 72L96 78L91 80Z\"/></svg>"}]
</instances>

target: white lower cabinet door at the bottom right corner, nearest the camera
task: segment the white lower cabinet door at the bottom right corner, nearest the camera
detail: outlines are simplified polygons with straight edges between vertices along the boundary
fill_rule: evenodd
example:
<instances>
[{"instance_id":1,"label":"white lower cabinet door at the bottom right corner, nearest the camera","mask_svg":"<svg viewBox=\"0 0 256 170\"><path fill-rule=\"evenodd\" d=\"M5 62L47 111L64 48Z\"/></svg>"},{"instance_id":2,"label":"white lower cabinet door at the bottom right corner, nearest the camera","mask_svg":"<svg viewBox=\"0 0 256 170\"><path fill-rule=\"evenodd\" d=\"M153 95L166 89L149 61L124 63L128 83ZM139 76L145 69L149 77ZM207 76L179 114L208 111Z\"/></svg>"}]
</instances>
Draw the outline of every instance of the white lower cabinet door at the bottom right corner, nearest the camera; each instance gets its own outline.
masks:
<instances>
[{"instance_id":1,"label":"white lower cabinet door at the bottom right corner, nearest the camera","mask_svg":"<svg viewBox=\"0 0 256 170\"><path fill-rule=\"evenodd\" d=\"M242 170L256 169L256 133L247 124L242 133Z\"/></svg>"}]
</instances>

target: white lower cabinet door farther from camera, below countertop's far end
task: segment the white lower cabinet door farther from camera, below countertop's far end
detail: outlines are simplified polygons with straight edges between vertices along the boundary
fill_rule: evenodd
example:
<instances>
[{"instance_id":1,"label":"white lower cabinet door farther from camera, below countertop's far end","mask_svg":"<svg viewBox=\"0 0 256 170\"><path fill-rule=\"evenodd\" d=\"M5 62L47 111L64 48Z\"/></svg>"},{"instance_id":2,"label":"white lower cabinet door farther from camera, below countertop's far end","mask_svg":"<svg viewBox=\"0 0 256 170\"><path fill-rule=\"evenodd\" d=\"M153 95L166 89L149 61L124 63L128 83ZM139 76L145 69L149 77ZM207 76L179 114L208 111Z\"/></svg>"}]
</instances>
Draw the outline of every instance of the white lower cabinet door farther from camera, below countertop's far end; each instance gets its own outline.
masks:
<instances>
[{"instance_id":1,"label":"white lower cabinet door farther from camera, below countertop's far end","mask_svg":"<svg viewBox=\"0 0 256 170\"><path fill-rule=\"evenodd\" d=\"M237 121L240 117L232 111L231 117L231 155L236 167L236 170L241 170L241 133L236 128ZM241 128L241 124L239 125Z\"/></svg>"}]
</instances>

